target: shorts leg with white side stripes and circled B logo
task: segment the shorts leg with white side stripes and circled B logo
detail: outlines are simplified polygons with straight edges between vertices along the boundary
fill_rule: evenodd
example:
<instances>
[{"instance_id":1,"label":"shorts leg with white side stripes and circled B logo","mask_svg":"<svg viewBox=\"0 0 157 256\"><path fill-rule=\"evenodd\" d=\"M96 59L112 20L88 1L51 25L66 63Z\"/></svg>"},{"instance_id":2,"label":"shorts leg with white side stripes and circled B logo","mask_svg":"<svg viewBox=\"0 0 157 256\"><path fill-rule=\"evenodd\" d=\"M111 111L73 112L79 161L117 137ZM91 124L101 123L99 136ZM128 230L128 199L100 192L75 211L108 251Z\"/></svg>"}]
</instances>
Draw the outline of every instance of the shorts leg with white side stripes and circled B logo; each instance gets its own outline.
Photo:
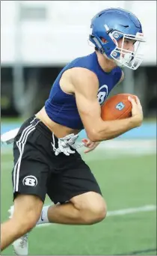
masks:
<instances>
[{"instance_id":1,"label":"shorts leg with white side stripes and circled B logo","mask_svg":"<svg viewBox=\"0 0 157 256\"><path fill-rule=\"evenodd\" d=\"M29 125L28 125L29 124ZM12 171L13 198L16 195L36 195L45 200L49 165L46 161L46 139L40 131L26 121L13 144L14 168ZM38 141L43 144L42 151Z\"/></svg>"}]
</instances>

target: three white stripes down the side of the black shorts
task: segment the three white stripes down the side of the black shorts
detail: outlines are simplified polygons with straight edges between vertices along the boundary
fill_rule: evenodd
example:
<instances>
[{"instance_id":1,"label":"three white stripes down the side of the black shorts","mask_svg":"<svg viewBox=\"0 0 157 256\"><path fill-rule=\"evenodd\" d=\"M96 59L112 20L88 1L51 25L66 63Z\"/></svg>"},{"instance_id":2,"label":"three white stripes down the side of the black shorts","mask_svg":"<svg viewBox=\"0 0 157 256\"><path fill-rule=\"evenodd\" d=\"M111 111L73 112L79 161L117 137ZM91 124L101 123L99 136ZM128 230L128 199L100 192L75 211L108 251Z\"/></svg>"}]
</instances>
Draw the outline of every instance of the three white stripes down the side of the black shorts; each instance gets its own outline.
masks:
<instances>
[{"instance_id":1,"label":"three white stripes down the side of the black shorts","mask_svg":"<svg viewBox=\"0 0 157 256\"><path fill-rule=\"evenodd\" d=\"M37 118L34 118L34 120L35 119L37 119ZM13 192L18 192L19 169L20 169L22 154L24 152L24 147L25 147L25 143L27 141L28 135L34 131L36 125L40 122L40 121L38 121L37 124L32 125L34 120L30 122L30 125L28 127L25 127L25 129L22 131L19 141L16 141L16 145L19 148L19 159L17 160L16 165L14 166L14 169L13 169Z\"/></svg>"}]
</instances>

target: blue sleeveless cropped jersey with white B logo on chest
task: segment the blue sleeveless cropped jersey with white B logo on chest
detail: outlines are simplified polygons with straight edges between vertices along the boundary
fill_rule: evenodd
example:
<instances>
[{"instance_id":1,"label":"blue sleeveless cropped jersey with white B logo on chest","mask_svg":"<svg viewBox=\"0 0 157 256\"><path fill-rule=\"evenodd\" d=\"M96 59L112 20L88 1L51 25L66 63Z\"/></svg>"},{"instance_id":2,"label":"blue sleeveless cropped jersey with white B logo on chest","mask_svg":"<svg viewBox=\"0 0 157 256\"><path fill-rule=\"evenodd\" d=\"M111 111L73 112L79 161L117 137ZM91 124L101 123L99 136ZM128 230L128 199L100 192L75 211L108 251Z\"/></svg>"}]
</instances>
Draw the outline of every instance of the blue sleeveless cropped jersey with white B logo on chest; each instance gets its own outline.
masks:
<instances>
[{"instance_id":1,"label":"blue sleeveless cropped jersey with white B logo on chest","mask_svg":"<svg viewBox=\"0 0 157 256\"><path fill-rule=\"evenodd\" d=\"M104 103L106 97L110 93L114 85L120 81L122 70L120 67L115 67L110 73L105 73L99 65L96 52L90 55L76 58L70 64L64 67L55 79L52 89L49 94L49 99L46 100L46 113L55 123L70 127L72 129L84 129L81 118L76 106L76 99L72 94L66 94L61 90L60 79L65 70L73 67L84 67L87 70L93 71L99 80L99 91L97 94L99 104ZM84 85L82 85L84 86Z\"/></svg>"}]
</instances>

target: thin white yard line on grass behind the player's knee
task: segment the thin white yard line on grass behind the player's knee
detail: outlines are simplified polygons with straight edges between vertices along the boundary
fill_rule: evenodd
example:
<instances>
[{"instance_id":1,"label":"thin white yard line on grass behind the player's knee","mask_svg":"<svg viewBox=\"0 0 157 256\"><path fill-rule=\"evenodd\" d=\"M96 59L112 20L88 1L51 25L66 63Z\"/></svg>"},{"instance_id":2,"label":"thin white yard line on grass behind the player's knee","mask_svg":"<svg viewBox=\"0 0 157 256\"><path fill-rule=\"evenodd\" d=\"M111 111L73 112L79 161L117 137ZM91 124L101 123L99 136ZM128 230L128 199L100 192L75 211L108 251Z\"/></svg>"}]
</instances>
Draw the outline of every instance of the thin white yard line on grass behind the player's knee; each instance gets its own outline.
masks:
<instances>
[{"instance_id":1,"label":"thin white yard line on grass behind the player's knee","mask_svg":"<svg viewBox=\"0 0 157 256\"><path fill-rule=\"evenodd\" d=\"M156 205L150 204L150 205L144 205L143 207L126 208L126 209L120 209L120 210L111 210L111 211L108 211L107 217L125 216L126 214L132 214L132 213L153 212L155 210L156 210ZM37 228L44 228L44 227L47 227L49 225L52 225L52 224L51 223L45 223L45 224L37 225Z\"/></svg>"}]
</instances>

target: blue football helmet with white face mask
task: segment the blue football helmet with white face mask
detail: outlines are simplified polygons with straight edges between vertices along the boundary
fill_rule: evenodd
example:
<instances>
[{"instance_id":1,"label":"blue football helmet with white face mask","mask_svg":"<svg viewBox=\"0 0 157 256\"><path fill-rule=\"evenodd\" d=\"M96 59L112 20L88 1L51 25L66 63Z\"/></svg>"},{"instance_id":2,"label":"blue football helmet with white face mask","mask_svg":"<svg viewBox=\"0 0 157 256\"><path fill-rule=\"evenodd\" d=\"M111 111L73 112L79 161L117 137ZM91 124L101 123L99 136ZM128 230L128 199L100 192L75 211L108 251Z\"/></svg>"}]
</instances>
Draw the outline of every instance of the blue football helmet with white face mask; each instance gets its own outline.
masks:
<instances>
[{"instance_id":1,"label":"blue football helmet with white face mask","mask_svg":"<svg viewBox=\"0 0 157 256\"><path fill-rule=\"evenodd\" d=\"M114 59L120 67L132 70L140 66L143 55L138 53L138 48L145 40L141 22L133 13L121 8L102 10L91 20L90 29L90 41L107 58ZM118 40L121 38L122 46L119 47ZM126 39L135 40L134 51L123 49Z\"/></svg>"}]
</instances>

